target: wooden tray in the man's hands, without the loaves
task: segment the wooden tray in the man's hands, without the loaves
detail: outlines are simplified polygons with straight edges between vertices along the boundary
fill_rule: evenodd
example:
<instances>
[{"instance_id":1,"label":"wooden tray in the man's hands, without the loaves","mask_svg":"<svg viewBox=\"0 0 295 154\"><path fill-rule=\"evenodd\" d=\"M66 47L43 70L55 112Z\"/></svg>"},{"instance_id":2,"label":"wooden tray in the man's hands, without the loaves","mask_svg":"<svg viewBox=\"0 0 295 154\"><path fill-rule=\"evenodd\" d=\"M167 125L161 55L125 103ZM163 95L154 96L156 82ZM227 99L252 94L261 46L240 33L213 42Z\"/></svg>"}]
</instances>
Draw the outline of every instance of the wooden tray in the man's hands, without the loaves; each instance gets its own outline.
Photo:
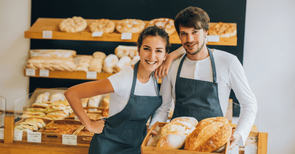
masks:
<instances>
[{"instance_id":1,"label":"wooden tray in the man's hands, without the loaves","mask_svg":"<svg viewBox=\"0 0 295 154\"><path fill-rule=\"evenodd\" d=\"M163 145L163 143L164 144L167 144L167 145L164 145L164 146L162 146L162 148L157 148L158 147L158 145L159 145L159 143L160 143L160 141L161 140L163 140L162 139L162 137L163 136L161 136L161 138L160 138L160 140L159 141L156 141L157 143L157 147L150 147L150 145L148 145L148 144L150 144L150 140L151 140L151 138L153 138L153 135L151 134L151 132L152 132L152 130L154 130L154 131L156 131L156 132L158 132L158 135L159 135L159 133L161 133L161 130L159 130L159 127L163 127L163 128L165 128L164 126L166 125L166 124L168 124L168 123L166 123L166 122L156 122L154 125L153 125L153 127L151 127L151 129L150 129L150 131L147 133L147 135L146 135L146 137L145 137L145 139L143 140L143 143L142 143L142 145L141 145L141 153L142 154L157 154L157 153L159 153L159 154L171 154L171 153L175 153L175 154L184 154L184 153L186 153L186 154L204 154L204 153L209 153L209 152L199 152L199 151L189 151L189 150L184 150L185 148L186 148L186 146L185 146L185 148L183 148L184 146L184 144L183 145L181 145L182 146L182 148L178 148L178 149L171 149L171 145L173 145L174 143L172 143L173 141L176 141L176 140L173 140L172 142L171 141L169 141L169 140L165 140L165 141L162 141L162 145ZM196 126L196 127L198 127L198 126ZM199 127L201 127L201 126L199 126ZM229 126L230 127L230 126ZM158 129L158 130L156 130L156 128ZM167 127L166 127L167 128ZM165 129L166 129L165 128ZM231 128L231 127L230 127ZM231 132L232 130L230 129L230 132ZM194 131L192 131L191 132L191 134L192 133L194 133ZM157 136L158 136L157 135ZM173 134L174 135L174 134ZM195 136L195 135L194 135ZM156 137L156 136L155 136ZM172 137L173 138L173 137ZM179 138L182 138L182 137L177 137L176 139L177 140L179 140ZM189 137L187 137L187 139L186 139L186 141L185 141L185 143L186 142L188 142L188 140L189 140L189 138L192 138L190 135L189 135ZM169 139L168 137L167 137L167 139ZM171 136L170 136L170 139L171 139ZM191 139L191 140L193 140L193 139ZM219 152L219 153L223 153L223 154L227 154L228 152L229 152L229 147L230 147L230 140L228 139L228 140L225 140L225 144L222 146L222 148L220 148L220 149L218 149L218 150L220 150L221 152ZM169 145L168 145L169 144ZM167 148L167 147L169 147L170 146L170 148ZM175 145L173 145L174 147L175 147ZM181 147L180 146L180 147ZM190 146L190 145L189 145ZM181 150L182 149L182 150ZM217 151L215 151L214 150L214 152L217 152Z\"/></svg>"}]
</instances>

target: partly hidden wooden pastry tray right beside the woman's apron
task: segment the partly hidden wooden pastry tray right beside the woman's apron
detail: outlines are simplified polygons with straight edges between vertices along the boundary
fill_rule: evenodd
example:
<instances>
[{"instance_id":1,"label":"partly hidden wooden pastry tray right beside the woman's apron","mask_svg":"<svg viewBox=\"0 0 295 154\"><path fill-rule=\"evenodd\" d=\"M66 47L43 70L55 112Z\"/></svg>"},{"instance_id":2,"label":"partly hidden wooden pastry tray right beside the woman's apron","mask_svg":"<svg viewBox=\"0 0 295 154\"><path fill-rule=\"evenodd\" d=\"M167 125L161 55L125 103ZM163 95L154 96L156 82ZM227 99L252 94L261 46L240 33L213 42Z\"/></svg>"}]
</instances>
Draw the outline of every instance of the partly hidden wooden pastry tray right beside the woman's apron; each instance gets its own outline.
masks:
<instances>
[{"instance_id":1,"label":"partly hidden wooden pastry tray right beside the woman's apron","mask_svg":"<svg viewBox=\"0 0 295 154\"><path fill-rule=\"evenodd\" d=\"M94 133L89 132L85 126L82 126L73 135L77 135L77 143L90 144Z\"/></svg>"}]
</instances>

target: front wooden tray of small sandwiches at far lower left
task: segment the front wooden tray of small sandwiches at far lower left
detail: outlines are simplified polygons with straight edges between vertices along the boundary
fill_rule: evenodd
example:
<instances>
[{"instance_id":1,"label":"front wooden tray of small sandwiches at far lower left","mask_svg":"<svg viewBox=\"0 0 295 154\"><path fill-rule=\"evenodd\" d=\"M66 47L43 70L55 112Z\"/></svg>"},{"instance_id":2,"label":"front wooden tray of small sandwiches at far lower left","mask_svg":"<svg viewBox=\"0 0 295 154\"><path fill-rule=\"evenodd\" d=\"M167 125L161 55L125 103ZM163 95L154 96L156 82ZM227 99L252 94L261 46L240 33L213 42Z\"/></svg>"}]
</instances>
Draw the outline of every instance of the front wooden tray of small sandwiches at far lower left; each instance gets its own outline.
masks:
<instances>
[{"instance_id":1,"label":"front wooden tray of small sandwiches at far lower left","mask_svg":"<svg viewBox=\"0 0 295 154\"><path fill-rule=\"evenodd\" d=\"M22 133L22 141L27 141L27 131L40 132L41 130L44 129L45 125L49 124L50 122L52 122L52 120L45 119L45 118L25 118L25 119L19 120L18 122L14 124L14 130L22 129L24 131ZM26 125L26 126L19 128L20 125ZM29 127L34 130L31 130Z\"/></svg>"}]
</instances>

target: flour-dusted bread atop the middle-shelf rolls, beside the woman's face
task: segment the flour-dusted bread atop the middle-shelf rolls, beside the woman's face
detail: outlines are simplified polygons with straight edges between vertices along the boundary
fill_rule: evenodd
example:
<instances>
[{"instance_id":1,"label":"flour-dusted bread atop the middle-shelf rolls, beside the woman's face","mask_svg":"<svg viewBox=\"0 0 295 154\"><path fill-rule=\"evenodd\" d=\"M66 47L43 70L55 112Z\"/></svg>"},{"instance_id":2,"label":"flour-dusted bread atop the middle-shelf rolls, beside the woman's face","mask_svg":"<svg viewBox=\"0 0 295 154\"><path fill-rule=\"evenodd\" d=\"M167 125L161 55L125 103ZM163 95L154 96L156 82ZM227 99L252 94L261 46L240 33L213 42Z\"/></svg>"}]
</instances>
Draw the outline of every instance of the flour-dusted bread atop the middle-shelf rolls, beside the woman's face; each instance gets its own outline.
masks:
<instances>
[{"instance_id":1,"label":"flour-dusted bread atop the middle-shelf rolls, beside the woman's face","mask_svg":"<svg viewBox=\"0 0 295 154\"><path fill-rule=\"evenodd\" d=\"M124 46L119 45L115 49L115 54L118 56L118 58L121 58L123 56L130 56L131 58L138 55L137 47L135 46Z\"/></svg>"}]
</instances>

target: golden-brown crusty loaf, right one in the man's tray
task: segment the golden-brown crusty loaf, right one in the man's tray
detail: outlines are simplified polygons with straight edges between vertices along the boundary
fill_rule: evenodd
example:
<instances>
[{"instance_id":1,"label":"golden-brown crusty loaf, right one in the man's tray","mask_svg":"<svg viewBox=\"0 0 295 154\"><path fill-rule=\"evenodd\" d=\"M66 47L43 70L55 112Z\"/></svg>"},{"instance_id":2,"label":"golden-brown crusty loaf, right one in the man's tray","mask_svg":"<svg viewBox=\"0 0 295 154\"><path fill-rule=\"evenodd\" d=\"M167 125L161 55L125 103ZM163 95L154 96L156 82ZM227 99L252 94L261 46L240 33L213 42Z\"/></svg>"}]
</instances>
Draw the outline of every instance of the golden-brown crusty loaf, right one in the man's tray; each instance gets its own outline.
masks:
<instances>
[{"instance_id":1,"label":"golden-brown crusty loaf, right one in the man's tray","mask_svg":"<svg viewBox=\"0 0 295 154\"><path fill-rule=\"evenodd\" d=\"M230 139L232 127L223 122L206 122L189 135L184 150L213 152Z\"/></svg>"}]
</instances>

